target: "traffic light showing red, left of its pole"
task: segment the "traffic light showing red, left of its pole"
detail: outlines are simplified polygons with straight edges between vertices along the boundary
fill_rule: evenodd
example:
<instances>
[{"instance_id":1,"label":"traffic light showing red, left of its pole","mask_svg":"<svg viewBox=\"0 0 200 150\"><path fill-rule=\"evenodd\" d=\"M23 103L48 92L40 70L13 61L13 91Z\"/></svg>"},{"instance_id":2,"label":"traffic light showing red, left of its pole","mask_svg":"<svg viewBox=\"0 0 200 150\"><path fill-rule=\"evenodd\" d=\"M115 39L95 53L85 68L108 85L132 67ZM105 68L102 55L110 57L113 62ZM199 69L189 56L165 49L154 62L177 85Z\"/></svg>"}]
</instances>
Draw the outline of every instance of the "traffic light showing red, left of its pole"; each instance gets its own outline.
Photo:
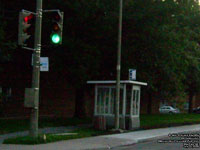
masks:
<instances>
[{"instance_id":1,"label":"traffic light showing red, left of its pole","mask_svg":"<svg viewBox=\"0 0 200 150\"><path fill-rule=\"evenodd\" d=\"M19 13L18 44L24 47L34 46L35 14L27 11Z\"/></svg>"}]
</instances>

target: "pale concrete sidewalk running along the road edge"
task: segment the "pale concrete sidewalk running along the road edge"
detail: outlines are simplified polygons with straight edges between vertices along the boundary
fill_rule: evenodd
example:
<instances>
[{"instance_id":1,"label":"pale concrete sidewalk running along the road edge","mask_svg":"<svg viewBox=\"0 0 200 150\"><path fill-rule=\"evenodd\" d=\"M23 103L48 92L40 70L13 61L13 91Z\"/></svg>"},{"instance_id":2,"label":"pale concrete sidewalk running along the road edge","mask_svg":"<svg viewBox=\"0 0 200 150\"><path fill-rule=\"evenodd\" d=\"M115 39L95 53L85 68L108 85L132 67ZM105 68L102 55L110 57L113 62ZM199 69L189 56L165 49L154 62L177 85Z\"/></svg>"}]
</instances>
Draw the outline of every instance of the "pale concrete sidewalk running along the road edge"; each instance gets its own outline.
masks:
<instances>
[{"instance_id":1,"label":"pale concrete sidewalk running along the road edge","mask_svg":"<svg viewBox=\"0 0 200 150\"><path fill-rule=\"evenodd\" d=\"M40 145L4 145L0 144L0 150L95 150L113 148L123 145L135 144L152 139L168 136L171 133L196 132L200 133L200 125L187 125L152 130L133 131L129 133L90 137L60 141Z\"/></svg>"}]
</instances>

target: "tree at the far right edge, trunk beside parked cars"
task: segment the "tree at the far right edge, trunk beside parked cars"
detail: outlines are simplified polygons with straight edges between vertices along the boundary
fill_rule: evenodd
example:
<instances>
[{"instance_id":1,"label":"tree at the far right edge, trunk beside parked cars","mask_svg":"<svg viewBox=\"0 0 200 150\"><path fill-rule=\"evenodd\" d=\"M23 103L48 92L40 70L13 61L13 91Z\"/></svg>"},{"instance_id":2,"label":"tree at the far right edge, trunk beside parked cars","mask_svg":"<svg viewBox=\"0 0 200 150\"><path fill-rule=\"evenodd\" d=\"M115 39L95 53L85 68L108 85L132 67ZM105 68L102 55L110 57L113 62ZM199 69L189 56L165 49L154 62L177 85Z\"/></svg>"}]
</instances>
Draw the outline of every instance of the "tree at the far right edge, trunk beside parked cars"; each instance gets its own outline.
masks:
<instances>
[{"instance_id":1,"label":"tree at the far right edge, trunk beside parked cars","mask_svg":"<svg viewBox=\"0 0 200 150\"><path fill-rule=\"evenodd\" d=\"M186 80L184 80L186 93L189 96L188 113L192 112L193 97L199 92L200 87L200 70L199 70L199 56L200 56L200 21L199 21L199 1L188 0L187 3L179 1L182 15L179 16L179 24L185 30L187 36L187 44L185 51L189 60L189 67L186 72Z\"/></svg>"}]
</instances>

